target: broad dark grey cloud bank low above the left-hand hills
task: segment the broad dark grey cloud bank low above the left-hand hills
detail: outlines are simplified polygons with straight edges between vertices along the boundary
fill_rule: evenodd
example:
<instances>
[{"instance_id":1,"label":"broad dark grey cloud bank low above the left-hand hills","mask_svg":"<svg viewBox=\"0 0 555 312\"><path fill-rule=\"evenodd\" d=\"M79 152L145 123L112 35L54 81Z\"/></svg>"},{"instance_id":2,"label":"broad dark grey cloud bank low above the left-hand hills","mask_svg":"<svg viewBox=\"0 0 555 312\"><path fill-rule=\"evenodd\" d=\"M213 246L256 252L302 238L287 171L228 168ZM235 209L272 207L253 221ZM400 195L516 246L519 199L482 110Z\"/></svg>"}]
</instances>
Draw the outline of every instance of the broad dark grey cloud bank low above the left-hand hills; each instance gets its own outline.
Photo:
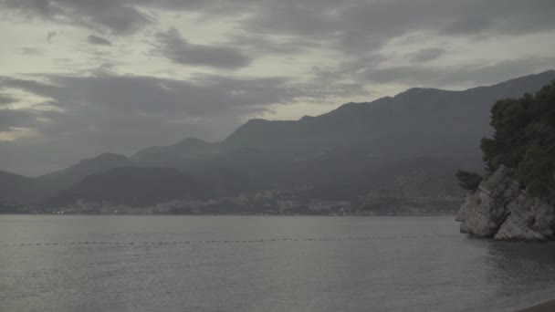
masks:
<instances>
[{"instance_id":1,"label":"broad dark grey cloud bank low above the left-hand hills","mask_svg":"<svg viewBox=\"0 0 555 312\"><path fill-rule=\"evenodd\" d=\"M14 89L44 98L40 105L55 108L0 109L0 132L16 127L41 134L0 142L0 148L9 147L10 151L0 165L22 172L29 169L18 166L16 155L34 153L56 159L45 164L44 168L52 170L103 151L131 153L149 144L169 144L189 136L222 139L244 116L275 103L291 102L304 92L291 88L287 78L203 76L183 81L107 73L0 78L0 91Z\"/></svg>"}]
</instances>

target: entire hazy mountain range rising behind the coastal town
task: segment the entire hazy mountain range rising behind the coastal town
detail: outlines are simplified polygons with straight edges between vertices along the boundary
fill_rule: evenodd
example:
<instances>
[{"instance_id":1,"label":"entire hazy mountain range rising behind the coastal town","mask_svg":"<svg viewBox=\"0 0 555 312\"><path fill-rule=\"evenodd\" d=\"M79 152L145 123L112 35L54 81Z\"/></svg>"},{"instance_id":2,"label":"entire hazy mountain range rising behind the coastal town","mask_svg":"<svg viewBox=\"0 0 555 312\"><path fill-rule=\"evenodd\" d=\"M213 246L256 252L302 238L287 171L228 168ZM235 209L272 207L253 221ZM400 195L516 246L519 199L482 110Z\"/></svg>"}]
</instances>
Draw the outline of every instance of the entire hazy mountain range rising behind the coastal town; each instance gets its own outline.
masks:
<instances>
[{"instance_id":1,"label":"entire hazy mountain range rising behind the coastal town","mask_svg":"<svg viewBox=\"0 0 555 312\"><path fill-rule=\"evenodd\" d=\"M301 185L336 199L384 187L455 194L453 172L482 166L479 141L492 134L495 101L552 80L554 70L463 91L411 88L316 117L249 120L215 143L188 138L130 156L104 153L36 178L0 172L0 203L143 205Z\"/></svg>"}]
</instances>

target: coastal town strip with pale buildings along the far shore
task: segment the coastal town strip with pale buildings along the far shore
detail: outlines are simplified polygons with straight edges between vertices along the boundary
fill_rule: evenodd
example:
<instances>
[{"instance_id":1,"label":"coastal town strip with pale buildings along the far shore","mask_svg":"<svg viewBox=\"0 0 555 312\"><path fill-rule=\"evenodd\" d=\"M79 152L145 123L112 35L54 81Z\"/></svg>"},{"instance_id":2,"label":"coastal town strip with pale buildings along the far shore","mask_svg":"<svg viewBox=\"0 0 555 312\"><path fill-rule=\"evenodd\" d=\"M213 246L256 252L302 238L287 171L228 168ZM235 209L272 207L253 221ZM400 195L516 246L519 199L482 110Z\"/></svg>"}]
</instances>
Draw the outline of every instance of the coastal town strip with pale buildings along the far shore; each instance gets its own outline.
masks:
<instances>
[{"instance_id":1,"label":"coastal town strip with pale buildings along the far shore","mask_svg":"<svg viewBox=\"0 0 555 312\"><path fill-rule=\"evenodd\" d=\"M187 215L453 215L461 199L456 196L415 197L370 192L353 200L306 198L295 192L265 191L235 197L174 200L150 205L87 202L62 206L0 204L1 213L43 214L187 214Z\"/></svg>"}]
</instances>

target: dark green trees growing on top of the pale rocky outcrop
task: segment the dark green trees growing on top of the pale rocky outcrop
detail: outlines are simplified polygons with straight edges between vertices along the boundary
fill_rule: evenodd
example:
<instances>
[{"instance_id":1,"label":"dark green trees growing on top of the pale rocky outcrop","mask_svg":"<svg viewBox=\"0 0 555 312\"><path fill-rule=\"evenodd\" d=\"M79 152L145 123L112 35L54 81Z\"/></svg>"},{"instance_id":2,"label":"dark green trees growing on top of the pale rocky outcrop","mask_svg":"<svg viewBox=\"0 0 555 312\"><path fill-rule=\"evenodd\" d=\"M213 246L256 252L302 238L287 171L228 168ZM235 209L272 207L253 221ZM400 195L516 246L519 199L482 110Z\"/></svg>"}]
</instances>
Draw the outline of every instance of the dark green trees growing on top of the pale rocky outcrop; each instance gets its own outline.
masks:
<instances>
[{"instance_id":1,"label":"dark green trees growing on top of the pale rocky outcrop","mask_svg":"<svg viewBox=\"0 0 555 312\"><path fill-rule=\"evenodd\" d=\"M490 124L493 138L480 144L487 174L500 165L515 168L529 194L555 199L555 81L534 96L497 100ZM459 171L456 177L466 190L476 190L477 174Z\"/></svg>"}]
</instances>

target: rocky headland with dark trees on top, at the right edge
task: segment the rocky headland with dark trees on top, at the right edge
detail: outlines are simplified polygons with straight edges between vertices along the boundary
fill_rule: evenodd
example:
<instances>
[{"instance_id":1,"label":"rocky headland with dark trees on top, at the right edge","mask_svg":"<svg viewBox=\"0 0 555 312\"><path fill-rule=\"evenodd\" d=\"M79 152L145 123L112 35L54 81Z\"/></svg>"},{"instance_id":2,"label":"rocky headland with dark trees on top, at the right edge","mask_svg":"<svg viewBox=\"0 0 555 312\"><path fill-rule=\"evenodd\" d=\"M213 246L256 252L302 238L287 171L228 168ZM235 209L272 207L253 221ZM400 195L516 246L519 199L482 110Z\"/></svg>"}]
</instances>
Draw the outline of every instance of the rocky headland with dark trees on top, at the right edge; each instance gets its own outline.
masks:
<instances>
[{"instance_id":1,"label":"rocky headland with dark trees on top, at the right edge","mask_svg":"<svg viewBox=\"0 0 555 312\"><path fill-rule=\"evenodd\" d=\"M461 232L497 240L555 237L555 82L535 95L500 99L491 109L492 138L480 147L485 175L459 171L467 192Z\"/></svg>"}]
</instances>

